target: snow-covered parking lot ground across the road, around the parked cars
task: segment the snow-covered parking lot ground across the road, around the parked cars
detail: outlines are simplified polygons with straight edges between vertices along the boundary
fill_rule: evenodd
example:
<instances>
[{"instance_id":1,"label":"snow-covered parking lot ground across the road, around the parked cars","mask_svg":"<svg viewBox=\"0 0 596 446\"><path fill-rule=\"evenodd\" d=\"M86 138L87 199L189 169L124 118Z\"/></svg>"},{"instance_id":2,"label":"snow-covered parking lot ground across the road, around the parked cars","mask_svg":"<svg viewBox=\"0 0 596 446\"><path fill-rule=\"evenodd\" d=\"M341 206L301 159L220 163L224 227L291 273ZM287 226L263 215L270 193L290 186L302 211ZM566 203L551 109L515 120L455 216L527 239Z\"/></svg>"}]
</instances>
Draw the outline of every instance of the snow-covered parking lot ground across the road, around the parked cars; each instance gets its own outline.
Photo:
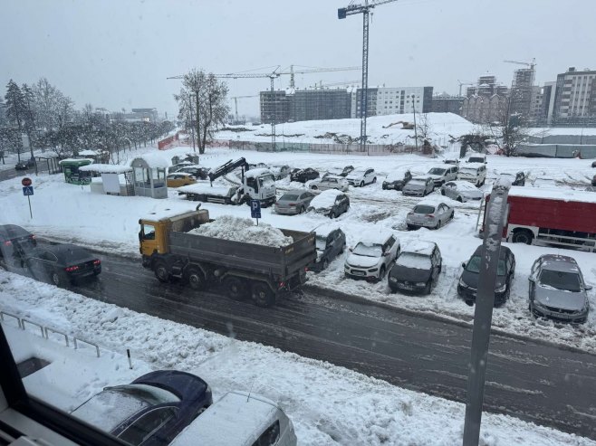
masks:
<instances>
[{"instance_id":1,"label":"snow-covered parking lot ground across the road, around the parked cars","mask_svg":"<svg viewBox=\"0 0 596 446\"><path fill-rule=\"evenodd\" d=\"M187 148L177 148L168 155L183 155ZM376 185L351 187L348 196L351 208L333 222L339 224L346 233L348 246L355 246L360 236L367 232L390 230L395 232L402 244L417 240L436 242L442 257L444 269L437 287L429 296L407 296L391 294L386 280L368 283L346 279L343 274L345 255L332 261L328 270L320 274L309 273L309 283L330 291L341 291L360 299L383 302L396 308L405 308L420 314L430 314L441 318L471 321L474 308L467 307L457 296L457 280L461 273L462 261L467 261L481 243L477 238L478 204L468 202L456 206L455 219L437 231L421 229L407 231L406 215L418 203L418 198L404 197L399 192L384 191L381 183L394 169L406 167L412 171L428 172L437 160L418 156L361 157L333 156L298 153L260 153L229 149L210 149L201 157L201 164L207 167L219 166L230 158L245 157L249 162L283 163L295 167L315 167L321 172L337 166L370 166L379 175ZM527 185L532 185L537 176L548 175L561 187L581 185L587 181L591 161L579 159L536 159L505 158L489 156L488 178L498 173L515 173L523 170L528 177ZM99 251L115 252L131 257L139 256L139 217L151 212L190 211L196 207L170 189L167 200L154 200L145 197L122 197L97 195L89 192L89 186L67 185L62 176L34 177L35 195L31 197L33 220L29 218L27 200L22 195L21 178L0 182L0 208L8 210L0 214L0 223L14 223L24 226L39 236L58 241L80 243ZM224 179L216 184L229 185ZM571 184L571 185L570 185ZM300 183L290 183L288 178L277 182L278 197L291 188L303 188ZM484 187L490 190L490 185ZM588 194L588 193L586 193ZM437 192L427 199L442 200ZM447 201L447 200L446 200ZM250 208L245 205L205 204L210 217L216 221L225 215L248 217ZM312 231L317 226L330 223L330 219L315 213L285 216L274 214L273 208L262 210L263 223L277 228L297 231ZM578 261L585 279L596 285L594 253L559 250L540 246L509 244L516 258L515 279L511 298L502 308L495 308L493 326L502 332L519 337L528 337L558 345L580 348L596 353L596 289L589 292L591 314L586 324L571 326L533 318L528 311L528 275L532 263L543 253L572 255ZM140 265L140 263L139 263ZM139 266L140 268L140 266Z\"/></svg>"}]
</instances>

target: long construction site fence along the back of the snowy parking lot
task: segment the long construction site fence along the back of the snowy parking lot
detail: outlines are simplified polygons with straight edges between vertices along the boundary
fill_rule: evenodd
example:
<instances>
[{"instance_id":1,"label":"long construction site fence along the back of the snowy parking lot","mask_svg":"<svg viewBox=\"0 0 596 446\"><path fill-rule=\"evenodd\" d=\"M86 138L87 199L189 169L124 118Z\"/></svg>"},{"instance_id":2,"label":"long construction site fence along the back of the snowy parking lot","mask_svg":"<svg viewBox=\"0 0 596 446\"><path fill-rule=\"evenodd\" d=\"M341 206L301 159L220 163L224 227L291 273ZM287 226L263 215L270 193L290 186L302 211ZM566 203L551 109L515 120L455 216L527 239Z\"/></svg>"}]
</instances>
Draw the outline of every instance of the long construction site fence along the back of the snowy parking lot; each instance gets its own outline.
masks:
<instances>
[{"instance_id":1,"label":"long construction site fence along the back of the snowy parking lot","mask_svg":"<svg viewBox=\"0 0 596 446\"><path fill-rule=\"evenodd\" d=\"M362 150L358 144L312 144L312 143L298 143L279 141L275 143L275 147L271 142L255 142L255 141L238 141L238 140L222 140L216 139L209 144L209 147L229 147L239 150L255 150L257 152L303 152L303 153L320 153L320 154L337 154L337 155L393 155L393 154L408 154L420 153L425 154L425 147L421 145L406 146L406 145L380 145L370 144L365 150ZM431 155L432 148L427 150Z\"/></svg>"}]
</instances>

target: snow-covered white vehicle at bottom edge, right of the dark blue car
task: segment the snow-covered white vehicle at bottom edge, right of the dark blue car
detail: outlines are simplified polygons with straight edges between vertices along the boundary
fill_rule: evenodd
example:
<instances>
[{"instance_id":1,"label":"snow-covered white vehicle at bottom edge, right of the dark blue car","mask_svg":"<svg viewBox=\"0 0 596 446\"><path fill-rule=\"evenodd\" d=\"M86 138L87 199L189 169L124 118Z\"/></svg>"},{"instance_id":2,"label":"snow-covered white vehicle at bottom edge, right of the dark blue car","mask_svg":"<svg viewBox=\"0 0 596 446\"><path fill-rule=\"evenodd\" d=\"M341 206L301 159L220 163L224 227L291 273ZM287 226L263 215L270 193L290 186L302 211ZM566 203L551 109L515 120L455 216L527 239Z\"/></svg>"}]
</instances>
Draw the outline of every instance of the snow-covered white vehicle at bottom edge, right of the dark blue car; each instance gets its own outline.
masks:
<instances>
[{"instance_id":1,"label":"snow-covered white vehicle at bottom edge, right of the dark blue car","mask_svg":"<svg viewBox=\"0 0 596 446\"><path fill-rule=\"evenodd\" d=\"M292 421L273 401L228 392L198 415L170 446L296 446Z\"/></svg>"}]
</instances>

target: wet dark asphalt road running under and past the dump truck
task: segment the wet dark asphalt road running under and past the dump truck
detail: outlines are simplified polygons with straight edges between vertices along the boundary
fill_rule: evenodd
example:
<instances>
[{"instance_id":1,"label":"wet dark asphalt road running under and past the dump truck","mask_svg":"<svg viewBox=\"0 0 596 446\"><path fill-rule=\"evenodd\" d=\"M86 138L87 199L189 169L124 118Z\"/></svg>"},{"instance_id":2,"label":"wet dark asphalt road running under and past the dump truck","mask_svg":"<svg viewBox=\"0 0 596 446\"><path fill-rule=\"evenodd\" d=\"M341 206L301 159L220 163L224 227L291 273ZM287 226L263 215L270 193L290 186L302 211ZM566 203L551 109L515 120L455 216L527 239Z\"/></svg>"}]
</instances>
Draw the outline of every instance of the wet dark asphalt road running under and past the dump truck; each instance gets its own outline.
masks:
<instances>
[{"instance_id":1,"label":"wet dark asphalt road running under and past the dump truck","mask_svg":"<svg viewBox=\"0 0 596 446\"><path fill-rule=\"evenodd\" d=\"M310 290L276 308L257 308L250 301L160 283L140 260L101 259L100 280L76 287L77 292L465 401L468 327ZM486 381L486 410L596 439L596 356L494 335Z\"/></svg>"}]
</instances>

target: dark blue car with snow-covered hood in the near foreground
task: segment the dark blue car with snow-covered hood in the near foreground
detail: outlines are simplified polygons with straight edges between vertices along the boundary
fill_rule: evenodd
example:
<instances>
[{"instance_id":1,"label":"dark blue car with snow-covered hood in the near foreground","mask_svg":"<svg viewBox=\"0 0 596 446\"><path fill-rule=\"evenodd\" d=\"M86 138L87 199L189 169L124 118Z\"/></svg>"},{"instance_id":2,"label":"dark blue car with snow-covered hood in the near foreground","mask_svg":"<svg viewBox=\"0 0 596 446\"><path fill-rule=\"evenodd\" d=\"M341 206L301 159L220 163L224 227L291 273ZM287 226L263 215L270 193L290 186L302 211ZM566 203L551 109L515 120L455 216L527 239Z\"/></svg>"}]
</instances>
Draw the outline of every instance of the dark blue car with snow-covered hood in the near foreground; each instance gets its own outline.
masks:
<instances>
[{"instance_id":1,"label":"dark blue car with snow-covered hood in the near foreground","mask_svg":"<svg viewBox=\"0 0 596 446\"><path fill-rule=\"evenodd\" d=\"M157 370L104 388L72 415L128 444L157 446L172 441L211 403L211 388L198 376Z\"/></svg>"}]
</instances>

